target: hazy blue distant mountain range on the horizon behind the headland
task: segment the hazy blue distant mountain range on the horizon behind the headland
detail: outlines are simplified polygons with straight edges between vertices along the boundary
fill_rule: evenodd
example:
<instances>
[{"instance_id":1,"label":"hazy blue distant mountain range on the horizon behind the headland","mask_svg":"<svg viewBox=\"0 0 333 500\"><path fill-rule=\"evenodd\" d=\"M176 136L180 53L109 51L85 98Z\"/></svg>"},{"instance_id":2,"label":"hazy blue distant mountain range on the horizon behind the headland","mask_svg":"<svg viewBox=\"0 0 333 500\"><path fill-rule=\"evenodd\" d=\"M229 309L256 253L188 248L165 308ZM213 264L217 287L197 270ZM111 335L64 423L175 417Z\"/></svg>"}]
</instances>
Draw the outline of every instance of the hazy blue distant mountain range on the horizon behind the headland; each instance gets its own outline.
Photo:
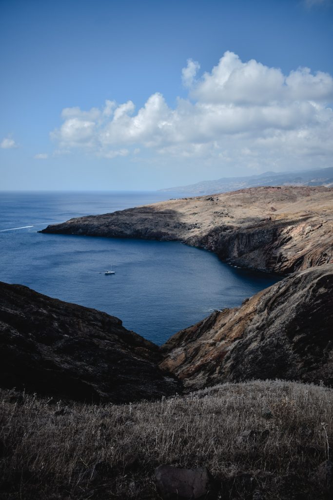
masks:
<instances>
[{"instance_id":1,"label":"hazy blue distant mountain range on the horizon behind the headland","mask_svg":"<svg viewBox=\"0 0 333 500\"><path fill-rule=\"evenodd\" d=\"M294 172L265 172L260 175L248 175L245 177L222 177L216 180L202 180L196 184L168 187L160 189L160 191L200 195L268 185L333 186L333 167Z\"/></svg>"}]
</instances>

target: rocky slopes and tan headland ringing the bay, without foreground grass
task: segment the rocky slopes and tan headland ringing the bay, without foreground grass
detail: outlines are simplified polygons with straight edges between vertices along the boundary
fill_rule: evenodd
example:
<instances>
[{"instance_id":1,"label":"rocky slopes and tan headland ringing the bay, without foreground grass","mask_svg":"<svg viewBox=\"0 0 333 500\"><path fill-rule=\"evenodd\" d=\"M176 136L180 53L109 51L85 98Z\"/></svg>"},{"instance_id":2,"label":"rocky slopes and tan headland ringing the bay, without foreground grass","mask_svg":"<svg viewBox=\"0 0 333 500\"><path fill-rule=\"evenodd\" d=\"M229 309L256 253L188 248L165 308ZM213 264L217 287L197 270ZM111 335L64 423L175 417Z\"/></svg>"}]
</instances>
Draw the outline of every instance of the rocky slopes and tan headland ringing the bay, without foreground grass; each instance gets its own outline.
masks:
<instances>
[{"instance_id":1,"label":"rocky slopes and tan headland ringing the bay, without foreground grass","mask_svg":"<svg viewBox=\"0 0 333 500\"><path fill-rule=\"evenodd\" d=\"M41 232L178 239L237 265L294 273L161 348L118 318L1 283L2 387L128 402L252 378L333 383L332 188L249 188L75 218Z\"/></svg>"}]
</instances>

